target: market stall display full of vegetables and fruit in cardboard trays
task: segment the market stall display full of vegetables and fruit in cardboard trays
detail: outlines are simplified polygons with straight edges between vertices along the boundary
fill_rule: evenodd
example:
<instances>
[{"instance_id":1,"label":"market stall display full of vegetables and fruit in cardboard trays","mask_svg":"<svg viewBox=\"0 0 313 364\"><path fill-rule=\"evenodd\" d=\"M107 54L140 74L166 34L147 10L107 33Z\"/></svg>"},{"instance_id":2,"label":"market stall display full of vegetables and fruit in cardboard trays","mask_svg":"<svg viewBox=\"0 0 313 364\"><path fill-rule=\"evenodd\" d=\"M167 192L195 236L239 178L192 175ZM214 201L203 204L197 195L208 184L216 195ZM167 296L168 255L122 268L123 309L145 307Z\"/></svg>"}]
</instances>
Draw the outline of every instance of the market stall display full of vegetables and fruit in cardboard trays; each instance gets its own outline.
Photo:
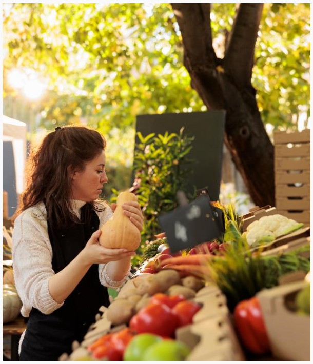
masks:
<instances>
[{"instance_id":1,"label":"market stall display full of vegetables and fruit in cardboard trays","mask_svg":"<svg viewBox=\"0 0 313 364\"><path fill-rule=\"evenodd\" d=\"M309 360L310 228L275 207L216 206L222 239L172 253L158 234L60 360Z\"/></svg>"}]
</instances>

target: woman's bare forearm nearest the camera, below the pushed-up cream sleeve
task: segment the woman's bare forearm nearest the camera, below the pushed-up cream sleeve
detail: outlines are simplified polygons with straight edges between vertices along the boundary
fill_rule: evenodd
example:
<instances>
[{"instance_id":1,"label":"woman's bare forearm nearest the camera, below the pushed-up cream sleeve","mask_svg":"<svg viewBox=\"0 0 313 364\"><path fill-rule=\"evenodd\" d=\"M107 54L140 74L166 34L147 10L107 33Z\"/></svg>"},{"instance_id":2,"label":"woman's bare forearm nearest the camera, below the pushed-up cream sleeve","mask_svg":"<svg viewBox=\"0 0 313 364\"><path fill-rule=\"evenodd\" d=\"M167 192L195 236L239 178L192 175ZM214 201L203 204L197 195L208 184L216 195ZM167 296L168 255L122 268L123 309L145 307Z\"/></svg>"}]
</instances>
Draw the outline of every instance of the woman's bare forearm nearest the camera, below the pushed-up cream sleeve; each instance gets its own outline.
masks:
<instances>
[{"instance_id":1,"label":"woman's bare forearm nearest the camera, below the pushed-up cream sleeve","mask_svg":"<svg viewBox=\"0 0 313 364\"><path fill-rule=\"evenodd\" d=\"M62 271L49 279L51 297L61 304L75 289L90 268L90 264L79 254Z\"/></svg>"}]
</instances>

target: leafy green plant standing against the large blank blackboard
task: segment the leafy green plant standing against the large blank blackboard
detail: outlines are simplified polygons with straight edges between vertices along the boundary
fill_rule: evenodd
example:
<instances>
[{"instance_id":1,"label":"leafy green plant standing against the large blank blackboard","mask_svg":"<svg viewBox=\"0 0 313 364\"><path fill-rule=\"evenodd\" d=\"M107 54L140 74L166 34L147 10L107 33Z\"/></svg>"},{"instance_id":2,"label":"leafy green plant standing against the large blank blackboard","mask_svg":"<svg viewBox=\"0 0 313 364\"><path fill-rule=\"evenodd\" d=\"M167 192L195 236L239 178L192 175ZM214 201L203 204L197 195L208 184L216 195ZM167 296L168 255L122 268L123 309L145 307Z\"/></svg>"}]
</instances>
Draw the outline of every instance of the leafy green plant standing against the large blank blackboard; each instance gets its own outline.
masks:
<instances>
[{"instance_id":1,"label":"leafy green plant standing against the large blank blackboard","mask_svg":"<svg viewBox=\"0 0 313 364\"><path fill-rule=\"evenodd\" d=\"M177 192L185 191L189 167L192 160L188 153L194 137L166 132L155 136L154 133L143 137L138 133L140 142L136 144L134 156L135 179L138 183L136 194L145 216L142 231L145 240L153 240L160 233L158 217L161 212L169 212L178 207Z\"/></svg>"}]
</instances>

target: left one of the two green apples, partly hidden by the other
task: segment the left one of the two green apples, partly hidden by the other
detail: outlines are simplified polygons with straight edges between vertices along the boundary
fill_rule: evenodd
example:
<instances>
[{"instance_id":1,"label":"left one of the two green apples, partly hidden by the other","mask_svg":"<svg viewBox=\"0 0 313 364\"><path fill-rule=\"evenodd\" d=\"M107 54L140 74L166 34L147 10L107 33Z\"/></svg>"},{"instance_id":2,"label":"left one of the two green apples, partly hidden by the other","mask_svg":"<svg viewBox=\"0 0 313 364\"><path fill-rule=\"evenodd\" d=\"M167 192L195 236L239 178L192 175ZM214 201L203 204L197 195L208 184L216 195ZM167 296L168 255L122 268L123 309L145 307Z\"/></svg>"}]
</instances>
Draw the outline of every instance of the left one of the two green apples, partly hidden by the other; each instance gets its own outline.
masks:
<instances>
[{"instance_id":1,"label":"left one of the two green apples, partly hidden by the other","mask_svg":"<svg viewBox=\"0 0 313 364\"><path fill-rule=\"evenodd\" d=\"M123 359L124 360L142 360L142 355L151 345L162 340L161 336L154 334L138 334L134 336L127 345Z\"/></svg>"}]
</instances>

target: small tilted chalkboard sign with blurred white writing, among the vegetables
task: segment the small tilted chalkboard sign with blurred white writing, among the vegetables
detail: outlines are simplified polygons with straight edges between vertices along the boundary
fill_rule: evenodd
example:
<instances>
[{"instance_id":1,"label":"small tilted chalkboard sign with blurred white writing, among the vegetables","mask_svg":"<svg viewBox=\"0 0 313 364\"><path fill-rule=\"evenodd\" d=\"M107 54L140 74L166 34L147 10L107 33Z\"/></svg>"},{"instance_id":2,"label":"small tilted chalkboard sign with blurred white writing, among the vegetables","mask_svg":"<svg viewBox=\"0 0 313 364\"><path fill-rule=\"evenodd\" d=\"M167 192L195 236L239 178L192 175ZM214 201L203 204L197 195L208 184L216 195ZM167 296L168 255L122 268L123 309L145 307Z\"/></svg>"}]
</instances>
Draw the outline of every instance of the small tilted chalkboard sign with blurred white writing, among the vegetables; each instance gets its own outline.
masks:
<instances>
[{"instance_id":1,"label":"small tilted chalkboard sign with blurred white writing, among the vegetables","mask_svg":"<svg viewBox=\"0 0 313 364\"><path fill-rule=\"evenodd\" d=\"M190 204L159 216L172 253L222 236L223 229L210 202L207 196L200 196Z\"/></svg>"}]
</instances>

